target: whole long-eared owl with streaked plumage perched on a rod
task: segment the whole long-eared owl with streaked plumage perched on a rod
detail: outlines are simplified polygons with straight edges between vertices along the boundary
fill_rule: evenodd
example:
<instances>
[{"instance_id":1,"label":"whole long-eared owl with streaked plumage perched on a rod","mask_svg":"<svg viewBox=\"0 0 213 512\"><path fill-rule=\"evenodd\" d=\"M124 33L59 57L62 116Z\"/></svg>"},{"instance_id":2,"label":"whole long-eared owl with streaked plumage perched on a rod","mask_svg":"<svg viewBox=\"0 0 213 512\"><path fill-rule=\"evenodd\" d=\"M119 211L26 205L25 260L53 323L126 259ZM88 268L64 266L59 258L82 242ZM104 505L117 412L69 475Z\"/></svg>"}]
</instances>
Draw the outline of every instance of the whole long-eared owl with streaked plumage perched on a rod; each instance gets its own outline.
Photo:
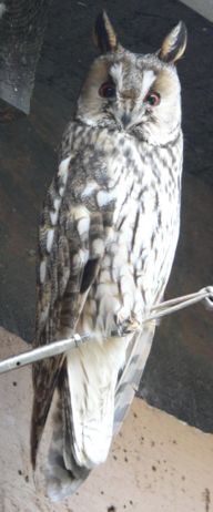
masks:
<instances>
[{"instance_id":1,"label":"whole long-eared owl with streaked plumage perched on a rod","mask_svg":"<svg viewBox=\"0 0 213 512\"><path fill-rule=\"evenodd\" d=\"M34 346L89 341L33 365L31 457L51 414L54 501L105 461L138 389L180 231L183 139L176 61L183 22L160 50L125 50L102 12L100 50L61 145L39 226Z\"/></svg>"}]
</instances>

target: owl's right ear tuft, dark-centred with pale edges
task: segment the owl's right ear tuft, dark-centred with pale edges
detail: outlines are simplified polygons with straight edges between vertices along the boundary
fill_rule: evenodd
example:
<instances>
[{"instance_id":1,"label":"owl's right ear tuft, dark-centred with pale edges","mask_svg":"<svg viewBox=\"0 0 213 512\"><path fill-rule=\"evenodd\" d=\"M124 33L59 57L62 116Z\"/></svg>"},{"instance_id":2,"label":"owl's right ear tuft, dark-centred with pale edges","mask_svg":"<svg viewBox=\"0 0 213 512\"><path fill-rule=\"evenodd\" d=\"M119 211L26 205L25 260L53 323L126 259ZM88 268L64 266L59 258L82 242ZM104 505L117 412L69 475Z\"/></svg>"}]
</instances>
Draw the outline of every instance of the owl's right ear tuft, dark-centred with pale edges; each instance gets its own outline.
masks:
<instances>
[{"instance_id":1,"label":"owl's right ear tuft, dark-centred with pale edges","mask_svg":"<svg viewBox=\"0 0 213 512\"><path fill-rule=\"evenodd\" d=\"M180 21L166 35L159 52L159 59L163 62L176 62L184 53L187 42L185 23Z\"/></svg>"}]
</instances>

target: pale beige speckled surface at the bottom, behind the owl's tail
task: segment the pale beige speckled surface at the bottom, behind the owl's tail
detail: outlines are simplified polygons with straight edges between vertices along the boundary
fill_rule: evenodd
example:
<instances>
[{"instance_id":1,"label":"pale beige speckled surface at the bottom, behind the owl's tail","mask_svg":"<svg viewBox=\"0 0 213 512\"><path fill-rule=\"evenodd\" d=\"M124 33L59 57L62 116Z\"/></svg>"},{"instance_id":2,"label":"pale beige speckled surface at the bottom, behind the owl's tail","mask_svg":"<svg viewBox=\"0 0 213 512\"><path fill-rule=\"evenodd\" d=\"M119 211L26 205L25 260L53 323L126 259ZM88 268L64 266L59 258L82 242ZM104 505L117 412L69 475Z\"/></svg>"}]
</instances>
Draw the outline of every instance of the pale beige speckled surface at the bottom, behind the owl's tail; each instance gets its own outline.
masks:
<instances>
[{"instance_id":1,"label":"pale beige speckled surface at the bottom, behind the owl's tail","mask_svg":"<svg viewBox=\"0 0 213 512\"><path fill-rule=\"evenodd\" d=\"M1 356L26 344L0 329ZM211 512L213 437L135 399L105 464L74 496L53 504L29 462L29 368L0 377L0 512ZM42 454L49 444L47 429ZM40 461L42 467L42 460Z\"/></svg>"}]
</instances>

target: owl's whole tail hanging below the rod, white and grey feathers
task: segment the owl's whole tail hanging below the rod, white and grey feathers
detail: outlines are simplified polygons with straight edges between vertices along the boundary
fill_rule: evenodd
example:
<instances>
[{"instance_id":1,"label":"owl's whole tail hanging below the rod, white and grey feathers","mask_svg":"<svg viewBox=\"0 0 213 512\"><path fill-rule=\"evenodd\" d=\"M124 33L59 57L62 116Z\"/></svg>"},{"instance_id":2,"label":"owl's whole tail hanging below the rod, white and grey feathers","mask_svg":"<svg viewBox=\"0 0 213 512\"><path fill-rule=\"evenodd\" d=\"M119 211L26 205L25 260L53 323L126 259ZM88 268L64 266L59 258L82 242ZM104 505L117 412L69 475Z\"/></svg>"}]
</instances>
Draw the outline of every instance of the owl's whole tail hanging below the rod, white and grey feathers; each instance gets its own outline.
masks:
<instances>
[{"instance_id":1,"label":"owl's whole tail hanging below the rod, white and grey feathers","mask_svg":"<svg viewBox=\"0 0 213 512\"><path fill-rule=\"evenodd\" d=\"M111 338L68 355L49 451L52 501L75 492L90 470L106 459L138 389L153 332L150 326L132 340L130 336Z\"/></svg>"}]
</instances>

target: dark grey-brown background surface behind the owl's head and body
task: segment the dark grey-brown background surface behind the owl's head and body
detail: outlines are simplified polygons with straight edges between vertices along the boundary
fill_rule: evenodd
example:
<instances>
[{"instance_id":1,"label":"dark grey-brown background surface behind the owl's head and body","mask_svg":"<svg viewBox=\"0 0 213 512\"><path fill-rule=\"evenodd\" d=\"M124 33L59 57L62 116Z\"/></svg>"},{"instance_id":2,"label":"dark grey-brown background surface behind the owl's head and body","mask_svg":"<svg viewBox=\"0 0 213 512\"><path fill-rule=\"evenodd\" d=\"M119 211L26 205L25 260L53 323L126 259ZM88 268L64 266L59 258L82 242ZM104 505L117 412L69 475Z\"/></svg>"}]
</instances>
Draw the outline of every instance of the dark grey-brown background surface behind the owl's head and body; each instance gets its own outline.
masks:
<instances>
[{"instance_id":1,"label":"dark grey-brown background surface behind the owl's head and body","mask_svg":"<svg viewBox=\"0 0 213 512\"><path fill-rule=\"evenodd\" d=\"M185 144L182 229L166 298L213 283L213 25L174 0L53 0L30 116L0 124L0 324L28 341L34 328L38 215L63 129L97 54L91 32L103 7L121 43L134 52L158 50L180 19L187 25L187 50L179 64ZM151 405L211 432L212 331L213 315L202 305L164 319L140 387Z\"/></svg>"}]
</instances>

